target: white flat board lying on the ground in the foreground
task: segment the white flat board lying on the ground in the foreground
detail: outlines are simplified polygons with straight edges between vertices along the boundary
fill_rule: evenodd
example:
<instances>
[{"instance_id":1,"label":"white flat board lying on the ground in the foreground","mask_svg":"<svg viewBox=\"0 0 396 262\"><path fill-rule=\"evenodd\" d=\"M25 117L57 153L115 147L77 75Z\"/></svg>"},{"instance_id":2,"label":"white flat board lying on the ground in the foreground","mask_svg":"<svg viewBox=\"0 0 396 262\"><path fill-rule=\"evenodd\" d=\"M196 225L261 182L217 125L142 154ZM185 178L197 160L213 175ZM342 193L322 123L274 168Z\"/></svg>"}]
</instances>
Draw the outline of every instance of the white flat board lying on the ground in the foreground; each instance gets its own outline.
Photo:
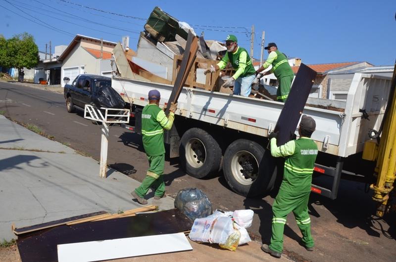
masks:
<instances>
[{"instance_id":1,"label":"white flat board lying on the ground in the foreground","mask_svg":"<svg viewBox=\"0 0 396 262\"><path fill-rule=\"evenodd\" d=\"M59 262L102 261L193 250L184 233L130 237L57 246Z\"/></svg>"}]
</instances>

